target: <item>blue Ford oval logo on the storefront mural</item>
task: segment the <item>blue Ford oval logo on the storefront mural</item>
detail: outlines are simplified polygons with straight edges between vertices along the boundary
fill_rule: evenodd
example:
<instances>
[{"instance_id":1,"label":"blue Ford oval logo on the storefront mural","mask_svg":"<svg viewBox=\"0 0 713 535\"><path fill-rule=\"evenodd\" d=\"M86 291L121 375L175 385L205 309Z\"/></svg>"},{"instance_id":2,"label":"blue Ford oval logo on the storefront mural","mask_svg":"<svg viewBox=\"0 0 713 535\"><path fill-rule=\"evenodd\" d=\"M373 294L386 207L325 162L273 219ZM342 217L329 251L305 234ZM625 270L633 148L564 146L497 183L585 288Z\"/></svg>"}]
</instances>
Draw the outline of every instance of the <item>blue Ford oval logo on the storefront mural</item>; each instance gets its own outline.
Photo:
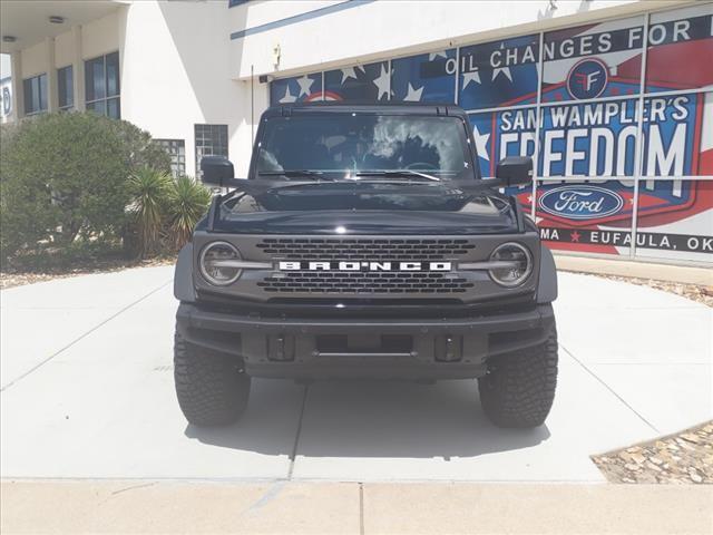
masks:
<instances>
[{"instance_id":1,"label":"blue Ford oval logo on the storefront mural","mask_svg":"<svg viewBox=\"0 0 713 535\"><path fill-rule=\"evenodd\" d=\"M603 187L569 185L545 192L537 204L544 212L559 217L596 220L618 212L624 206L624 200Z\"/></svg>"}]
</instances>

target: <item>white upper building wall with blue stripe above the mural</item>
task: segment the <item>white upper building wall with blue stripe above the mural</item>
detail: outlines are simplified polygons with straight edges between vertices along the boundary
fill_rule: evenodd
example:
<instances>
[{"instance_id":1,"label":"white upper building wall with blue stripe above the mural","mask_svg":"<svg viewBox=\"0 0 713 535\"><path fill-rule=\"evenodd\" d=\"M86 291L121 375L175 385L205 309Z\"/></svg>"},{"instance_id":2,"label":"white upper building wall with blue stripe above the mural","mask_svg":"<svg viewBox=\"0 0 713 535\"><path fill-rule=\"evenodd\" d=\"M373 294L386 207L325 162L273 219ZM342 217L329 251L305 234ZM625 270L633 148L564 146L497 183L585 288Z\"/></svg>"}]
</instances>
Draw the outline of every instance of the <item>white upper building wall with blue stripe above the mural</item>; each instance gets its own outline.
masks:
<instances>
[{"instance_id":1,"label":"white upper building wall with blue stripe above the mural","mask_svg":"<svg viewBox=\"0 0 713 535\"><path fill-rule=\"evenodd\" d=\"M333 3L311 0L247 2L229 9L231 31L283 21ZM231 41L232 76L290 76L369 62L421 50L451 48L528 31L622 17L681 3L675 0L374 1ZM273 49L280 46L279 68Z\"/></svg>"}]
</instances>

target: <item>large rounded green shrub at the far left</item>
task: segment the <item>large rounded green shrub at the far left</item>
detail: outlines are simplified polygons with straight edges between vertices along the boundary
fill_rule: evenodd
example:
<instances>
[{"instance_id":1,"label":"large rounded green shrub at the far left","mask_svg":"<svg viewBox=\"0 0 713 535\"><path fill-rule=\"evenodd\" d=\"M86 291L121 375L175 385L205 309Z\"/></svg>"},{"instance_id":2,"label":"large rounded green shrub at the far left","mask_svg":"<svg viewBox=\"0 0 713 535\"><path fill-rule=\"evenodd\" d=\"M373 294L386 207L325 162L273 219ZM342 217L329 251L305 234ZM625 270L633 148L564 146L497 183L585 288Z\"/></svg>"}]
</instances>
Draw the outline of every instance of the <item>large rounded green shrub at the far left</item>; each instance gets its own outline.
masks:
<instances>
[{"instance_id":1,"label":"large rounded green shrub at the far left","mask_svg":"<svg viewBox=\"0 0 713 535\"><path fill-rule=\"evenodd\" d=\"M128 177L169 157L136 126L95 114L45 114L3 128L0 256L127 228Z\"/></svg>"}]
</instances>

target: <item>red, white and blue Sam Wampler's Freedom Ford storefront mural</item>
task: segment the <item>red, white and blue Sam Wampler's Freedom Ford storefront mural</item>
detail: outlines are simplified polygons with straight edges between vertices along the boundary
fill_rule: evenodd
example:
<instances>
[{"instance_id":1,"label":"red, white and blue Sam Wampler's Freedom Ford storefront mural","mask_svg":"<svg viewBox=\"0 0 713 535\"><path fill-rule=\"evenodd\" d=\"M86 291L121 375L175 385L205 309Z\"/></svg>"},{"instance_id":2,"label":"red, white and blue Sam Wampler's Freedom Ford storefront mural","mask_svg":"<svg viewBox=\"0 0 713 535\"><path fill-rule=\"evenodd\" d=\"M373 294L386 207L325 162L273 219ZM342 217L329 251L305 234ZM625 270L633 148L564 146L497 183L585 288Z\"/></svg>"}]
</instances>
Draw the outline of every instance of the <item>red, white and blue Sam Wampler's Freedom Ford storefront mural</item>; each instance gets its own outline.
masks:
<instances>
[{"instance_id":1,"label":"red, white and blue Sam Wampler's Freedom Ford storefront mural","mask_svg":"<svg viewBox=\"0 0 713 535\"><path fill-rule=\"evenodd\" d=\"M279 79L271 103L457 103L484 176L536 159L512 193L550 247L713 262L711 66L707 2Z\"/></svg>"}]
</instances>

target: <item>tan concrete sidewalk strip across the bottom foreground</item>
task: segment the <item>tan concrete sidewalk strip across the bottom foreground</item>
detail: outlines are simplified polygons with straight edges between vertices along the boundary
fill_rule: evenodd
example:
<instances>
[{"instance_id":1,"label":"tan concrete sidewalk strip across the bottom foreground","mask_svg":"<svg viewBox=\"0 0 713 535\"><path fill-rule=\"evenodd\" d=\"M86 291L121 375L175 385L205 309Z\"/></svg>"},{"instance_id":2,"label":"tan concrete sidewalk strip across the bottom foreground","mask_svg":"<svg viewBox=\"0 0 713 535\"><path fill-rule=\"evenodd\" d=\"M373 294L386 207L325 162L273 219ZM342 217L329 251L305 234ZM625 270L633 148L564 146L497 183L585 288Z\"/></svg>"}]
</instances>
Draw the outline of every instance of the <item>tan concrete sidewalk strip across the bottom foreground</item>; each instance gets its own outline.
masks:
<instances>
[{"instance_id":1,"label":"tan concrete sidewalk strip across the bottom foreground","mask_svg":"<svg viewBox=\"0 0 713 535\"><path fill-rule=\"evenodd\" d=\"M713 486L3 481L3 534L709 534Z\"/></svg>"}]
</instances>

